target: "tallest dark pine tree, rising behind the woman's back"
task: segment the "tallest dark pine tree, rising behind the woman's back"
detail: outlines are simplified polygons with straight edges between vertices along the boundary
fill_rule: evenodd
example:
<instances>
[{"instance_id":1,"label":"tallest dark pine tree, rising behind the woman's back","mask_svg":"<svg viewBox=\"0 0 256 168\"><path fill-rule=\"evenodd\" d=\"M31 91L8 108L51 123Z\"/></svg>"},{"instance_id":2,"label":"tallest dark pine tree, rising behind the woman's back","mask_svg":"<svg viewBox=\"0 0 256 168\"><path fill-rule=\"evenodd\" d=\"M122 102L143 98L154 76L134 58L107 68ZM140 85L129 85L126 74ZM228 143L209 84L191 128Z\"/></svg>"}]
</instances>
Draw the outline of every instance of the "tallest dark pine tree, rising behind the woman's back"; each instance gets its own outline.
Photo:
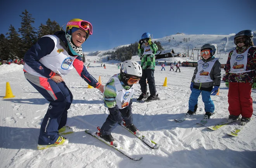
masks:
<instances>
[{"instance_id":1,"label":"tallest dark pine tree, rising behind the woman's back","mask_svg":"<svg viewBox=\"0 0 256 168\"><path fill-rule=\"evenodd\" d=\"M36 43L36 29L31 24L34 23L35 19L31 14L25 9L25 12L22 12L22 15L19 15L22 18L21 28L19 28L19 33L22 36L22 50L21 54L24 55L26 51L31 48L32 45Z\"/></svg>"}]
</instances>

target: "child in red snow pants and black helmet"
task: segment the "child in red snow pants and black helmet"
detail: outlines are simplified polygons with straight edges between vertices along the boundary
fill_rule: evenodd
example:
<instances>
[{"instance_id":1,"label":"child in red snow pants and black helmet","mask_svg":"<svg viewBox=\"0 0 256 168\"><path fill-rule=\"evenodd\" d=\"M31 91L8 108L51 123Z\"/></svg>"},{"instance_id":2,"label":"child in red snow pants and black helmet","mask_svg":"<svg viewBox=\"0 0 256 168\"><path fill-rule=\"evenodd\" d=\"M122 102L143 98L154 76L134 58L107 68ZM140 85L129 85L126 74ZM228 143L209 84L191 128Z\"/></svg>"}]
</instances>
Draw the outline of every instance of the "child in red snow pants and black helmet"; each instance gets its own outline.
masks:
<instances>
[{"instance_id":1,"label":"child in red snow pants and black helmet","mask_svg":"<svg viewBox=\"0 0 256 168\"><path fill-rule=\"evenodd\" d=\"M253 32L243 30L235 34L235 50L228 54L226 67L226 86L228 89L229 120L238 120L241 125L251 120L253 99L251 89L256 89L256 46L253 44Z\"/></svg>"}]
</instances>

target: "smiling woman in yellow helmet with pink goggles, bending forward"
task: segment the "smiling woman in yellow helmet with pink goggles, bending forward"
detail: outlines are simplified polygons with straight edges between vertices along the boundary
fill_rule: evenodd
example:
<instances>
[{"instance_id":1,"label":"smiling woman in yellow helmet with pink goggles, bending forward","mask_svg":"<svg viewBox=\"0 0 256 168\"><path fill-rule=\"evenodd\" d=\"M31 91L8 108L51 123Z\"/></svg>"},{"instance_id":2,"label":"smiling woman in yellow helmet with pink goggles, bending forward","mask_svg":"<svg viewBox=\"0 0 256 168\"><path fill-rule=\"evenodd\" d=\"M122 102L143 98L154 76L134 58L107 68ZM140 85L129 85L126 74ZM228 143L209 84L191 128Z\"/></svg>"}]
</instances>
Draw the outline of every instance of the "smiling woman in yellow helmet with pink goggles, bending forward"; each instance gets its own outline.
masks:
<instances>
[{"instance_id":1,"label":"smiling woman in yellow helmet with pink goggles, bending forward","mask_svg":"<svg viewBox=\"0 0 256 168\"><path fill-rule=\"evenodd\" d=\"M81 45L90 35L90 22L72 19L67 23L65 32L43 36L24 55L26 79L50 102L41 124L38 149L66 145L68 140L61 135L73 132L65 126L73 96L62 78L73 67L90 86L102 93L104 91L104 86L89 74L81 59Z\"/></svg>"}]
</instances>

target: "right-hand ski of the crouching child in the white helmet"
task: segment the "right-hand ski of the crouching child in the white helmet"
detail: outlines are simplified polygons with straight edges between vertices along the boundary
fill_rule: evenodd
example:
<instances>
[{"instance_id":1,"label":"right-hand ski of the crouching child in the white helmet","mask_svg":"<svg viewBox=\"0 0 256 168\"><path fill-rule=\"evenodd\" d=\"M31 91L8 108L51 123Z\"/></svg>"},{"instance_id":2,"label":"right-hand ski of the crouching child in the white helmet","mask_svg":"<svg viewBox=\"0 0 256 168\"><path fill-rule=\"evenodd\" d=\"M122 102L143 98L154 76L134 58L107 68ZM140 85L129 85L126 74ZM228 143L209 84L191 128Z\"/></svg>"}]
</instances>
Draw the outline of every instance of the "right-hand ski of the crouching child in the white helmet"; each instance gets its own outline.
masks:
<instances>
[{"instance_id":1,"label":"right-hand ski of the crouching child in the white helmet","mask_svg":"<svg viewBox=\"0 0 256 168\"><path fill-rule=\"evenodd\" d=\"M129 132L131 132L128 128L125 127L124 121L122 121L121 123L118 122L118 124L121 125L122 127L124 127ZM160 147L159 144L157 144L156 142L154 142L154 141L150 140L149 138L145 137L144 135L142 135L139 130L137 130L136 132L131 132L131 134L138 137L138 139L140 139L142 142L144 142L151 149L158 149Z\"/></svg>"}]
</instances>

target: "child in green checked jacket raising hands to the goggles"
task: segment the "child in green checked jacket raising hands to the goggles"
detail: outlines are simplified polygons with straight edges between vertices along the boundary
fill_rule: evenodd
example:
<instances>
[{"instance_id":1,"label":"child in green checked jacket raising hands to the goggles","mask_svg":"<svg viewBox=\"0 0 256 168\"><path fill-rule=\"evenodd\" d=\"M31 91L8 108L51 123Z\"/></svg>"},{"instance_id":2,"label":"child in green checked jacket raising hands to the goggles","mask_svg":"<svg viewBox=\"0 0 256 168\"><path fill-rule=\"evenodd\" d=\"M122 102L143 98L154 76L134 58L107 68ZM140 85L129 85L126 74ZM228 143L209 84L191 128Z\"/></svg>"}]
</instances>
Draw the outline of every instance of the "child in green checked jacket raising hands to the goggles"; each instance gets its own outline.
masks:
<instances>
[{"instance_id":1,"label":"child in green checked jacket raising hands to the goggles","mask_svg":"<svg viewBox=\"0 0 256 168\"><path fill-rule=\"evenodd\" d=\"M142 77L139 81L141 94L138 101L143 98L147 98L147 101L158 99L158 94L156 94L156 85L154 72L156 67L156 56L158 48L157 45L152 43L150 33L144 33L138 43L138 56L142 57L141 67L142 67ZM150 96L147 94L147 82L149 84Z\"/></svg>"}]
</instances>

